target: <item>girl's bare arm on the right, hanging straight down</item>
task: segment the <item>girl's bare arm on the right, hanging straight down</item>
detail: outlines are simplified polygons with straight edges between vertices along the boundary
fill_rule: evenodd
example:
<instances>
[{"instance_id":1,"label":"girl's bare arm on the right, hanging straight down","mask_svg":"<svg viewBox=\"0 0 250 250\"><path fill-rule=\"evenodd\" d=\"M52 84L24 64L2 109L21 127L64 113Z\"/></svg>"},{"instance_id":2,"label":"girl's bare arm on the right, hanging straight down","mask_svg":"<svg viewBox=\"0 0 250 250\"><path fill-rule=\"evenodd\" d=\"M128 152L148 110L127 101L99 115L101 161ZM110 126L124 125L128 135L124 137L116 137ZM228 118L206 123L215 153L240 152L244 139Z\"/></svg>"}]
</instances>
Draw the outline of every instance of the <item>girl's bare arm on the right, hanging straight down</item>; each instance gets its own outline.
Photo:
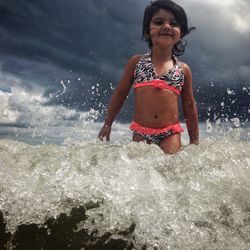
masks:
<instances>
[{"instance_id":1,"label":"girl's bare arm on the right, hanging straight down","mask_svg":"<svg viewBox=\"0 0 250 250\"><path fill-rule=\"evenodd\" d=\"M199 144L198 111L194 100L192 87L192 73L187 64L183 63L184 86L181 91L181 101L187 130L190 138L190 144Z\"/></svg>"}]
</instances>

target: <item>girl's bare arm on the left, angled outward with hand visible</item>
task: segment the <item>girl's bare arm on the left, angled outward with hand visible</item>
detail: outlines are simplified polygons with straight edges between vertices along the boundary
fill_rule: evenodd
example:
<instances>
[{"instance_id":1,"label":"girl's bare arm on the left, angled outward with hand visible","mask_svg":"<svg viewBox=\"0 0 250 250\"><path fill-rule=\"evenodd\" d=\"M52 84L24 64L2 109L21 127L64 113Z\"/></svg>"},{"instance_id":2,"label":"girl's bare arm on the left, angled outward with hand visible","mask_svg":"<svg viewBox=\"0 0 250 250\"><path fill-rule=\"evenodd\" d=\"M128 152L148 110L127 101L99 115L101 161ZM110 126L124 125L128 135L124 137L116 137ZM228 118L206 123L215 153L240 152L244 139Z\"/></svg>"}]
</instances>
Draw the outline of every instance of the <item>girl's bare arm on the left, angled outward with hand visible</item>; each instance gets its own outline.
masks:
<instances>
[{"instance_id":1,"label":"girl's bare arm on the left, angled outward with hand visible","mask_svg":"<svg viewBox=\"0 0 250 250\"><path fill-rule=\"evenodd\" d=\"M135 55L131 57L125 67L122 78L113 93L111 100L109 102L108 111L106 114L105 122L103 127L101 128L98 138L103 140L106 138L106 141L110 139L111 126L112 123L120 111L125 99L128 96L129 90L132 86L133 76L134 76L134 68L137 62L140 59L140 55Z\"/></svg>"}]
</instances>

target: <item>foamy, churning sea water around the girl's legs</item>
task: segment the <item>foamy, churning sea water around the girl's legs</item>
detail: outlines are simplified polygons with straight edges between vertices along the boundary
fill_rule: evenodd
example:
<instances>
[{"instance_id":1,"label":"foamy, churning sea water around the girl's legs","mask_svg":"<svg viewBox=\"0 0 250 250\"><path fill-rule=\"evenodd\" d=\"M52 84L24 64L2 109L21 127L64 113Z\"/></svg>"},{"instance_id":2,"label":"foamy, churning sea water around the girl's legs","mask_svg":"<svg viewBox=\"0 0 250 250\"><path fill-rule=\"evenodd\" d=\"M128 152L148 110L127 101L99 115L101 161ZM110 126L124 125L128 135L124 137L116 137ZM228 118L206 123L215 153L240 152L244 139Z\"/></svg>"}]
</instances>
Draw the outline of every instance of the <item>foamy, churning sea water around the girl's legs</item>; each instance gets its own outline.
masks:
<instances>
[{"instance_id":1,"label":"foamy, churning sea water around the girl's legs","mask_svg":"<svg viewBox=\"0 0 250 250\"><path fill-rule=\"evenodd\" d=\"M1 128L7 230L92 201L100 206L79 228L101 235L134 223L135 249L250 249L249 126L207 121L200 145L184 133L176 155L131 142L127 126L114 124L109 143L96 139L94 122Z\"/></svg>"}]
</instances>

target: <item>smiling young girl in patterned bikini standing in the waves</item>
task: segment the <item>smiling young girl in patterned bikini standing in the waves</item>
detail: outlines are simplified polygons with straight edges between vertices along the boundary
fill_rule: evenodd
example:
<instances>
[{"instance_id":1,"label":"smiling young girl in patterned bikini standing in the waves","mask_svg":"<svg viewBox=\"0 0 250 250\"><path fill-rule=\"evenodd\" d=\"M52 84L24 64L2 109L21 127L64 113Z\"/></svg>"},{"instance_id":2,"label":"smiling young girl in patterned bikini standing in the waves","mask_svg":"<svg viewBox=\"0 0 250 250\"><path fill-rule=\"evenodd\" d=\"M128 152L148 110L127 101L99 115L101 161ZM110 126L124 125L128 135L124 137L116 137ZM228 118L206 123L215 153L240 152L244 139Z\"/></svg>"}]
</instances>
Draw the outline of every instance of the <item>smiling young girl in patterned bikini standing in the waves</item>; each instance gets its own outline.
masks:
<instances>
[{"instance_id":1,"label":"smiling young girl in patterned bikini standing in the waves","mask_svg":"<svg viewBox=\"0 0 250 250\"><path fill-rule=\"evenodd\" d=\"M111 97L99 139L109 141L111 125L133 86L135 110L130 125L133 141L155 143L166 154L178 152L183 132L178 118L180 96L190 143L199 143L192 74L188 65L176 58L184 52L186 44L182 39L192 29L188 28L183 8L170 0L156 0L145 8L142 37L151 52L135 55L128 61Z\"/></svg>"}]
</instances>

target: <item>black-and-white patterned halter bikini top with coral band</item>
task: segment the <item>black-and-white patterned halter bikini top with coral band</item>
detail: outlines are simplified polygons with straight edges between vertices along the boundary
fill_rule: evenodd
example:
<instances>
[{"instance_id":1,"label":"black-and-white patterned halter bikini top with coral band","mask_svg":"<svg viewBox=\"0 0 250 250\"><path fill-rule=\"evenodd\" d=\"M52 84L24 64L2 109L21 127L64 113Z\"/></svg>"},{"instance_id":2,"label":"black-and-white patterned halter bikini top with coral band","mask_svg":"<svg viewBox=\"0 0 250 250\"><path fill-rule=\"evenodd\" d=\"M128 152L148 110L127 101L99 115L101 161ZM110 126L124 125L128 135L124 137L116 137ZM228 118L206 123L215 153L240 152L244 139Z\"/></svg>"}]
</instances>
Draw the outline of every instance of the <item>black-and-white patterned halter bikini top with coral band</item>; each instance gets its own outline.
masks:
<instances>
[{"instance_id":1,"label":"black-and-white patterned halter bikini top with coral band","mask_svg":"<svg viewBox=\"0 0 250 250\"><path fill-rule=\"evenodd\" d=\"M169 89L180 94L184 84L184 74L180 62L173 55L175 64L161 77L157 76L155 66L151 60L151 54L145 54L136 64L134 71L134 88L152 86L160 89Z\"/></svg>"}]
</instances>

